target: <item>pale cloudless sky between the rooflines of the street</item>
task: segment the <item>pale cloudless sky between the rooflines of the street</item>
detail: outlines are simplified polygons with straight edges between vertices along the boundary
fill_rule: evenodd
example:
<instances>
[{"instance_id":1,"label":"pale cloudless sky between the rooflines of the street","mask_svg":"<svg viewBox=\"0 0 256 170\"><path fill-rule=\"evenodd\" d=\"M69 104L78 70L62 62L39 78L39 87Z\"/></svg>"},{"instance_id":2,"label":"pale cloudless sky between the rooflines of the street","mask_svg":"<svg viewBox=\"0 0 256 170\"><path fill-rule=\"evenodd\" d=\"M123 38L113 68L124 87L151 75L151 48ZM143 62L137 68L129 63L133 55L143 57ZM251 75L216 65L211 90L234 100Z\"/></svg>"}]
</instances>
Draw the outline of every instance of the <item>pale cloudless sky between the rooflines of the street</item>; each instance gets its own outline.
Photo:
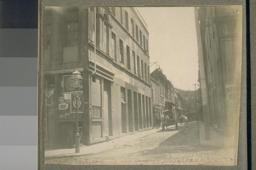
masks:
<instances>
[{"instance_id":1,"label":"pale cloudless sky between the rooflines of the street","mask_svg":"<svg viewBox=\"0 0 256 170\"><path fill-rule=\"evenodd\" d=\"M194 7L137 7L147 24L150 62L174 87L195 90L198 46ZM150 67L151 72L156 64Z\"/></svg>"}]
</instances>

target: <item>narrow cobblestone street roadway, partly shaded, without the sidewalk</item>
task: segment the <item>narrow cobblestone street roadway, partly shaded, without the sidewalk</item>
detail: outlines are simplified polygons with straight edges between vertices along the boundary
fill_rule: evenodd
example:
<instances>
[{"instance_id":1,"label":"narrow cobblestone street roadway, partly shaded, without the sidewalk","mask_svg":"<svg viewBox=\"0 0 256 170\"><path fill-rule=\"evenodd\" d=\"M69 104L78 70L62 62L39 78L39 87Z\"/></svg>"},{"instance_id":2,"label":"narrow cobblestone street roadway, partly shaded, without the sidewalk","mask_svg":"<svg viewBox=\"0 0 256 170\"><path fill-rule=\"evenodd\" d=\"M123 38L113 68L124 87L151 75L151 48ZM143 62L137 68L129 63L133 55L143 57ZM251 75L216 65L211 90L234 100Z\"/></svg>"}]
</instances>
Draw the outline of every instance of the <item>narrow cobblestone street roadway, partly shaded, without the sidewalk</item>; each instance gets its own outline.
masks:
<instances>
[{"instance_id":1,"label":"narrow cobblestone street roadway, partly shaded, without the sidewalk","mask_svg":"<svg viewBox=\"0 0 256 170\"><path fill-rule=\"evenodd\" d=\"M111 141L109 141L111 142ZM75 157L46 159L57 164L119 164L119 165L234 165L234 150L200 145L197 122L170 127L167 131L142 137L115 148Z\"/></svg>"}]
</instances>

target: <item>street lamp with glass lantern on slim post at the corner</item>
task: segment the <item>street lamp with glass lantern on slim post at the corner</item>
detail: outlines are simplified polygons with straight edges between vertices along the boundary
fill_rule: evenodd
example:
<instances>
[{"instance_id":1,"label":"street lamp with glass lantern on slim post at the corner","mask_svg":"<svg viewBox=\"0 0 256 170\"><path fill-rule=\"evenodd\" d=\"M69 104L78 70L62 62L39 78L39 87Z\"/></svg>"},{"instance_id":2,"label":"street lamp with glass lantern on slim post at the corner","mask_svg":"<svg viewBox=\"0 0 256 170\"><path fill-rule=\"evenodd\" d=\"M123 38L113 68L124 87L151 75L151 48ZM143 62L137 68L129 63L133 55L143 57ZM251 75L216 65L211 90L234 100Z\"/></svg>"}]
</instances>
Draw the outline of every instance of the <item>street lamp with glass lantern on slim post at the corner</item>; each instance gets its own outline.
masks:
<instances>
[{"instance_id":1,"label":"street lamp with glass lantern on slim post at the corner","mask_svg":"<svg viewBox=\"0 0 256 170\"><path fill-rule=\"evenodd\" d=\"M76 153L80 152L80 141L79 141L79 129L78 129L78 91L80 90L80 86L82 84L82 76L81 73L75 70L70 78L72 80L72 87L76 89L76 114L75 114L75 123L76 123L76 133L75 133L75 151Z\"/></svg>"}]
</instances>

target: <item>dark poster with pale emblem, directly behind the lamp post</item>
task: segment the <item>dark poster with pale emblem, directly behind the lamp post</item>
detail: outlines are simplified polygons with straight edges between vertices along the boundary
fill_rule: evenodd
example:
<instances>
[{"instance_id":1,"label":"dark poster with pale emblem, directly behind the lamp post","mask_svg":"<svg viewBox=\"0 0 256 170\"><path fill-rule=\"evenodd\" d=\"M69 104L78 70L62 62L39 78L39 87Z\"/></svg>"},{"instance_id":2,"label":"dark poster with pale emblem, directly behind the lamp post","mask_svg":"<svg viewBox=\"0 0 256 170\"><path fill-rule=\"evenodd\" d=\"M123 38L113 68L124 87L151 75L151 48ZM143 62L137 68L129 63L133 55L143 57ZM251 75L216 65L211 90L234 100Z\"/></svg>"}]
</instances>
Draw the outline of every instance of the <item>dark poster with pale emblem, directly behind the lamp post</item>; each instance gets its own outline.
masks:
<instances>
[{"instance_id":1,"label":"dark poster with pale emblem, directly behind the lamp post","mask_svg":"<svg viewBox=\"0 0 256 170\"><path fill-rule=\"evenodd\" d=\"M78 108L78 113L83 112L83 91L78 91L78 99L77 99L77 108ZM76 112L76 92L71 92L71 113Z\"/></svg>"}]
</instances>

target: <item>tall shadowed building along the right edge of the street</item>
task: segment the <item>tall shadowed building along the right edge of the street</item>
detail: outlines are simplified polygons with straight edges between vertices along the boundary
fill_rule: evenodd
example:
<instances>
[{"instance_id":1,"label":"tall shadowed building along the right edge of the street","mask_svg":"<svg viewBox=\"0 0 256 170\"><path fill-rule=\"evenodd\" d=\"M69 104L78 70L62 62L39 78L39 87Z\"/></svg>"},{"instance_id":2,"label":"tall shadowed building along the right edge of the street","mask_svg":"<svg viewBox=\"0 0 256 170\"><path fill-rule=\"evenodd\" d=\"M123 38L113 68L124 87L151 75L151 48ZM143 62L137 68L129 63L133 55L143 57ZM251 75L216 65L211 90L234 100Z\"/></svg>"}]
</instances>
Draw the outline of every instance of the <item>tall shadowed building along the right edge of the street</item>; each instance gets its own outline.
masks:
<instances>
[{"instance_id":1,"label":"tall shadowed building along the right edge of the street","mask_svg":"<svg viewBox=\"0 0 256 170\"><path fill-rule=\"evenodd\" d=\"M206 129L234 134L240 106L242 7L195 8L195 18Z\"/></svg>"}]
</instances>

